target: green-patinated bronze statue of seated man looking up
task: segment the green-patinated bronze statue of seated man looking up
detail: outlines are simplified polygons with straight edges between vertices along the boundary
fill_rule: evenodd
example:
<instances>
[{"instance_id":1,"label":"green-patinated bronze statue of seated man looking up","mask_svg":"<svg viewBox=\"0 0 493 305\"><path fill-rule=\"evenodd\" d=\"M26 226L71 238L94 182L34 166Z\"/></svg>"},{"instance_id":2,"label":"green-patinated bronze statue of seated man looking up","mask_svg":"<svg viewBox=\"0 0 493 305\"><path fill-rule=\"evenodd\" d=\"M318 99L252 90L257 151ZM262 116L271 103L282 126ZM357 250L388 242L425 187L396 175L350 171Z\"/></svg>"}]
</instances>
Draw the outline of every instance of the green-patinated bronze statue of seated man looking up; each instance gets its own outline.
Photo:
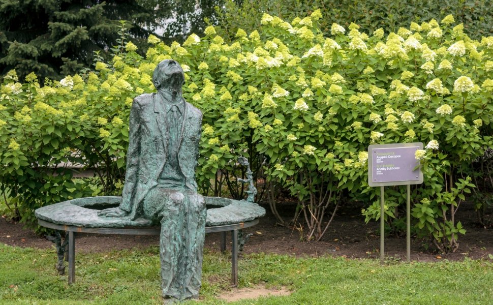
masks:
<instances>
[{"instance_id":1,"label":"green-patinated bronze statue of seated man looking up","mask_svg":"<svg viewBox=\"0 0 493 305\"><path fill-rule=\"evenodd\" d=\"M182 98L184 73L175 60L159 63L152 81L158 92L132 104L121 204L98 214L160 223L163 297L197 298L206 221L195 181L202 112Z\"/></svg>"}]
</instances>

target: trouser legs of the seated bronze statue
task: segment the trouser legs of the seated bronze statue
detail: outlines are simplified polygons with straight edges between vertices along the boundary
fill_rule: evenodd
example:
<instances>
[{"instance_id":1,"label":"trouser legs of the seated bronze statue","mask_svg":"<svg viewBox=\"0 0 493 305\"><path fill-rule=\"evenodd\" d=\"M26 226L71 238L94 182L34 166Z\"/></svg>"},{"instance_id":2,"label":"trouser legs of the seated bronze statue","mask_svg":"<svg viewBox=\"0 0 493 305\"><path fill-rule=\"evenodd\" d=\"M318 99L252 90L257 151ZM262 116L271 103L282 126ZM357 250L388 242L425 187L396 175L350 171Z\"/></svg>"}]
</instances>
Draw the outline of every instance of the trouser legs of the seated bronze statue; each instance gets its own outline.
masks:
<instances>
[{"instance_id":1,"label":"trouser legs of the seated bronze statue","mask_svg":"<svg viewBox=\"0 0 493 305\"><path fill-rule=\"evenodd\" d=\"M207 217L204 198L191 191L157 186L146 195L143 214L161 223L163 296L180 300L198 297Z\"/></svg>"}]
</instances>

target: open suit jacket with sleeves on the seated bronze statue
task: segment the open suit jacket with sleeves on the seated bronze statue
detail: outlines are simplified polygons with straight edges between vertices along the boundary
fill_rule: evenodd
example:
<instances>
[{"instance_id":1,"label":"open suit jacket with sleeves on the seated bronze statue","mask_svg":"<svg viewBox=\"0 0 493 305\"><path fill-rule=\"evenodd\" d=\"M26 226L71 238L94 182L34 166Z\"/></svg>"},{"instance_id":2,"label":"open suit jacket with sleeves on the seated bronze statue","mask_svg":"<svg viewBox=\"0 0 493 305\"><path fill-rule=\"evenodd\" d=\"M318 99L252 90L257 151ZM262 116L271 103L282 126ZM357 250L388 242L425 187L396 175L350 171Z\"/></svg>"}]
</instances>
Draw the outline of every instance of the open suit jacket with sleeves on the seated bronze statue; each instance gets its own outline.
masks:
<instances>
[{"instance_id":1,"label":"open suit jacket with sleeves on the seated bronze statue","mask_svg":"<svg viewBox=\"0 0 493 305\"><path fill-rule=\"evenodd\" d=\"M158 185L167 162L167 113L164 105L158 101L157 94L140 95L134 99L130 111L127 172L119 207L129 212L133 220L142 216L143 199ZM195 166L199 157L202 112L192 104L183 102L178 165L184 176L184 187L196 193Z\"/></svg>"}]
</instances>

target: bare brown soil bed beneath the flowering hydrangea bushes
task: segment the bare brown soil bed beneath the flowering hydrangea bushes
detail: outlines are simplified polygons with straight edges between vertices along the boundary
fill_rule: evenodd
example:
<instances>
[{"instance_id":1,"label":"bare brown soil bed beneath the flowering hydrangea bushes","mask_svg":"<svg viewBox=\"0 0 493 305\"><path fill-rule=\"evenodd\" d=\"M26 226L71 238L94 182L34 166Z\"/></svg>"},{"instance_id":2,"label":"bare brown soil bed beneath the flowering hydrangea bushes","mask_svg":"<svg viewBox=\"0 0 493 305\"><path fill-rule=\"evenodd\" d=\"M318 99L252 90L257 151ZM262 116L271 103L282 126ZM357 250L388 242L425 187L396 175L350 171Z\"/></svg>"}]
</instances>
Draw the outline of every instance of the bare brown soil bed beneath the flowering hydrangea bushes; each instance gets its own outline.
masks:
<instances>
[{"instance_id":1,"label":"bare brown soil bed beneath the flowering hydrangea bushes","mask_svg":"<svg viewBox=\"0 0 493 305\"><path fill-rule=\"evenodd\" d=\"M286 219L290 216L292 206L282 205ZM277 253L298 257L317 257L323 255L343 256L350 258L380 258L379 223L364 223L360 206L345 206L334 218L321 241L302 240L303 232L297 228L286 228L276 224L275 218L266 207L267 215L260 219L258 225L245 229L252 233L246 243L244 253ZM457 211L456 219L460 220L467 230L466 235L459 236L459 249L455 253L439 254L433 248L425 247L425 240L412 237L411 257L414 261L463 260L488 258L493 254L493 228L480 227L476 221L473 208L464 204ZM303 224L301 223L303 226ZM34 248L52 248L53 243L39 237L31 230L22 228L22 224L7 222L0 218L0 242L6 245ZM228 238L230 243L230 238ZM112 250L143 248L159 245L159 236L103 235L78 234L76 251L105 252ZM211 251L220 251L220 233L206 235L205 247ZM230 245L228 245L229 249ZM386 236L385 255L389 260L406 259L405 236Z\"/></svg>"}]
</instances>

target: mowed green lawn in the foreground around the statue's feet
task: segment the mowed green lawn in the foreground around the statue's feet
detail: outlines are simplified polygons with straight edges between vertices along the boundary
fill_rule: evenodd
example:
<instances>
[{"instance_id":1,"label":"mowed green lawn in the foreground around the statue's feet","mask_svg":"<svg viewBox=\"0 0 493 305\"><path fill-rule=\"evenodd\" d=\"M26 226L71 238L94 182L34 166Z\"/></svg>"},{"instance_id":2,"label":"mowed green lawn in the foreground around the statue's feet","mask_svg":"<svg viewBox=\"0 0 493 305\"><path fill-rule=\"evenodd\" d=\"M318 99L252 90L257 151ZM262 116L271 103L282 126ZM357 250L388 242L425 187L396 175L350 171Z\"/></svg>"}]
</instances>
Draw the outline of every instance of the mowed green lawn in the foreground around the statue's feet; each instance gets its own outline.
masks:
<instances>
[{"instance_id":1,"label":"mowed green lawn in the foreground around the statue's feet","mask_svg":"<svg viewBox=\"0 0 493 305\"><path fill-rule=\"evenodd\" d=\"M52 250L0 245L2 304L161 304L159 249L77 254L76 283L56 275ZM199 302L231 290L230 258L206 251ZM493 304L493 263L390 263L344 258L248 255L239 287L287 287L289 296L232 304Z\"/></svg>"}]
</instances>

